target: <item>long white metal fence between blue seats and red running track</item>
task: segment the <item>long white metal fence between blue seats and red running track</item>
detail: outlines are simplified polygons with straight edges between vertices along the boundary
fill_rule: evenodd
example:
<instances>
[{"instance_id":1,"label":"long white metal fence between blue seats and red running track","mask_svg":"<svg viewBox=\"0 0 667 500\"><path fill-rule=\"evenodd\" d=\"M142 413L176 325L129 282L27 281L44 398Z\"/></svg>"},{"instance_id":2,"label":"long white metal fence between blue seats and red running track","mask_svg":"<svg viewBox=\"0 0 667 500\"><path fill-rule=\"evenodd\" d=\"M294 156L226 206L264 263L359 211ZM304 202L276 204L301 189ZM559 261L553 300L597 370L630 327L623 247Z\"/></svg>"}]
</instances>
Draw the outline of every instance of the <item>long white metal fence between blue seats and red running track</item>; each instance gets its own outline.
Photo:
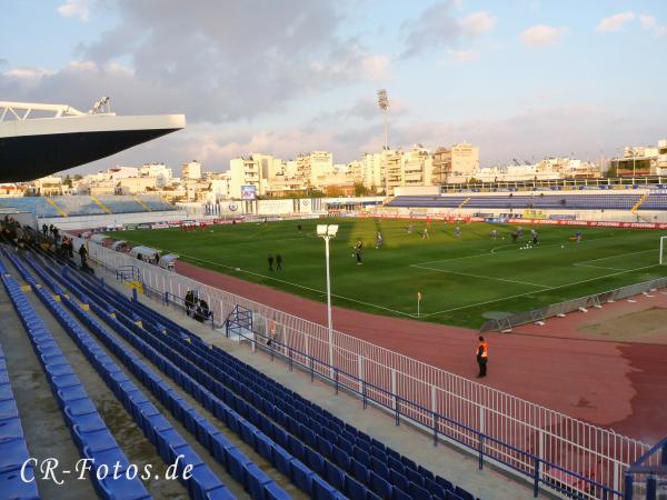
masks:
<instances>
[{"instance_id":1,"label":"long white metal fence between blue seats and red running track","mask_svg":"<svg viewBox=\"0 0 667 500\"><path fill-rule=\"evenodd\" d=\"M81 240L76 239L76 248ZM445 438L457 441L474 451L480 447L479 433L487 438L485 454L508 469L532 474L535 458L539 458L539 477L546 483L575 491L584 498L619 498L624 472L648 444L574 419L564 413L516 398L457 374L375 346L325 326L298 318L229 293L187 277L138 261L99 244L89 242L93 261L118 269L135 266L143 281L161 294L169 292L179 298L188 290L198 290L211 308L216 323L222 324L235 306L252 311L255 329L259 333L275 331L280 341L302 353L295 361L315 371L330 376L330 366L339 372L339 383L361 391L367 382L369 399L395 408ZM299 359L299 357L301 359ZM527 456L526 453L529 453ZM603 484L585 484L564 470Z\"/></svg>"}]
</instances>

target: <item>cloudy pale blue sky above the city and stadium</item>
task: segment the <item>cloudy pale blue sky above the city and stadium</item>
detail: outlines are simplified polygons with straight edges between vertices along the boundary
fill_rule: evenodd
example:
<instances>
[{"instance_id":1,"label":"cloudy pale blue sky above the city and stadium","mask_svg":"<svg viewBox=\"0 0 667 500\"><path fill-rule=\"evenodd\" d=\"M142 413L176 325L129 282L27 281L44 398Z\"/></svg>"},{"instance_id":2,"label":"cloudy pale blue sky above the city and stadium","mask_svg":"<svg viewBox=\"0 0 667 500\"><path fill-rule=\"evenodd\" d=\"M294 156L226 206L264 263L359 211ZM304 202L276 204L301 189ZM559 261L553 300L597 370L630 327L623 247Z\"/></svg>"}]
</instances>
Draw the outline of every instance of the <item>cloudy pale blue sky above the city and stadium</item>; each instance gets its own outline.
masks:
<instances>
[{"instance_id":1,"label":"cloudy pale blue sky above the city and stadium","mask_svg":"<svg viewBox=\"0 0 667 500\"><path fill-rule=\"evenodd\" d=\"M667 138L665 0L0 0L0 99L187 128L71 172L469 141L482 166ZM70 172L70 173L71 173Z\"/></svg>"}]
</instances>

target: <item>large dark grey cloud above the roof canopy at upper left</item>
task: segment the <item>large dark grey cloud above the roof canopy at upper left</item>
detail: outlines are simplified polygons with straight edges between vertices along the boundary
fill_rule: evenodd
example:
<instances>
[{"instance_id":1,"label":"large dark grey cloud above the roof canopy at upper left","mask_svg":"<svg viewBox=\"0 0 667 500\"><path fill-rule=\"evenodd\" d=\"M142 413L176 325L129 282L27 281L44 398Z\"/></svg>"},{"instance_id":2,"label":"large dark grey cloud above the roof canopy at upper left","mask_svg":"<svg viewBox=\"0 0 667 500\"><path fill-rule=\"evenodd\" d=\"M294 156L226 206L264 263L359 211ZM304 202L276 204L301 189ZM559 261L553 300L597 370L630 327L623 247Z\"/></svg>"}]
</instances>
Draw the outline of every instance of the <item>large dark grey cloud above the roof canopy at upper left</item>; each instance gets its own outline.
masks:
<instances>
[{"instance_id":1,"label":"large dark grey cloud above the roof canopy at upper left","mask_svg":"<svg viewBox=\"0 0 667 500\"><path fill-rule=\"evenodd\" d=\"M119 0L120 22L39 82L0 74L0 93L126 112L186 112L190 122L251 119L300 96L348 84L367 56L339 27L336 0ZM131 61L131 71L118 68Z\"/></svg>"}]
</instances>

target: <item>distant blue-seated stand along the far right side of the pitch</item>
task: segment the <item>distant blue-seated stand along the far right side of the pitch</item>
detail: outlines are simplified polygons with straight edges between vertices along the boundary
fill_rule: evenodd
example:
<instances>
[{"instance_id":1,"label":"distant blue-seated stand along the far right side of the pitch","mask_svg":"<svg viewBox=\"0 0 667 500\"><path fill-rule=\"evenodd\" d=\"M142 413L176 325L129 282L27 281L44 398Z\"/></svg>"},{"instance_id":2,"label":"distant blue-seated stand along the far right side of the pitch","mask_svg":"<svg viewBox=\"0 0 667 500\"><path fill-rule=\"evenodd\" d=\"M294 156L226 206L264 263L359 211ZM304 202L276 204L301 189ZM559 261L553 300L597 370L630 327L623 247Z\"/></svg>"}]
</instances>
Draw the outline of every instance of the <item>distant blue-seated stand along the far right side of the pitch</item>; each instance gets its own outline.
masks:
<instances>
[{"instance_id":1,"label":"distant blue-seated stand along the far right side of the pitch","mask_svg":"<svg viewBox=\"0 0 667 500\"><path fill-rule=\"evenodd\" d=\"M655 197L651 204L648 200ZM664 198L665 197L665 198ZM469 198L468 201L466 199ZM471 194L470 197L460 196L399 196L387 203L387 207L395 208L457 208L466 201L466 208L488 208L488 209L573 209L573 210L630 210L641 198L640 193L619 194L619 193L599 193L599 194ZM666 194L655 193L648 197L648 200L641 204L641 209L666 210Z\"/></svg>"}]
</instances>

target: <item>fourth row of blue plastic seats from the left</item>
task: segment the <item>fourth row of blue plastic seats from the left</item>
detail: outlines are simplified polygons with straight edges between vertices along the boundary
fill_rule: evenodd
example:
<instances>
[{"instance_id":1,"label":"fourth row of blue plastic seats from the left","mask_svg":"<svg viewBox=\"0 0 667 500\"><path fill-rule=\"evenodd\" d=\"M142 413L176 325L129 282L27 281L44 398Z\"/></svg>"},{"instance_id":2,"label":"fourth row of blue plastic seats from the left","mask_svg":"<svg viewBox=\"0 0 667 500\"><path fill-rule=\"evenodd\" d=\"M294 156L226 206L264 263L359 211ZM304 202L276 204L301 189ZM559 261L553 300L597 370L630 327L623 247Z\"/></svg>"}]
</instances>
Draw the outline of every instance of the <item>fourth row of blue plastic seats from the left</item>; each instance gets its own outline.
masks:
<instances>
[{"instance_id":1,"label":"fourth row of blue plastic seats from the left","mask_svg":"<svg viewBox=\"0 0 667 500\"><path fill-rule=\"evenodd\" d=\"M34 268L37 272L43 273L38 267ZM42 277L44 282L51 281L48 276ZM98 321L96 321L84 309L77 304L71 299L64 297L63 303L68 306L77 317L93 332L98 338L104 342L104 344L123 362L128 366L132 372L160 399L160 401L170 409L172 414L183 422L185 427L196 436L196 438L209 450L211 456L225 464L228 472L241 482L245 488L250 492L255 499L285 499L289 496L282 491L275 481L272 481L266 473L263 473L248 457L246 457L237 447L232 446L227 438L205 417L202 417L196 409L188 404L173 389L169 388L163 383L159 376L157 376L150 368L146 366L138 358L129 353L123 346L118 342ZM91 309L100 317L107 314L106 311L99 309L97 303L90 304ZM135 326L135 323L131 323ZM117 326L120 326L118 323ZM128 333L131 336L131 333ZM141 346L135 346L140 349L143 354L150 356L151 352L147 352L141 349ZM155 354L155 353L153 353ZM155 362L155 361L153 361ZM227 407L220 408L217 401L212 399L202 398L200 392L197 392L197 384L183 383L188 392L193 396L198 401L202 402L205 408L218 414L226 414L226 422L228 426L232 426L236 422L233 412ZM237 426L243 422L236 423ZM239 432L241 436L241 433Z\"/></svg>"}]
</instances>

